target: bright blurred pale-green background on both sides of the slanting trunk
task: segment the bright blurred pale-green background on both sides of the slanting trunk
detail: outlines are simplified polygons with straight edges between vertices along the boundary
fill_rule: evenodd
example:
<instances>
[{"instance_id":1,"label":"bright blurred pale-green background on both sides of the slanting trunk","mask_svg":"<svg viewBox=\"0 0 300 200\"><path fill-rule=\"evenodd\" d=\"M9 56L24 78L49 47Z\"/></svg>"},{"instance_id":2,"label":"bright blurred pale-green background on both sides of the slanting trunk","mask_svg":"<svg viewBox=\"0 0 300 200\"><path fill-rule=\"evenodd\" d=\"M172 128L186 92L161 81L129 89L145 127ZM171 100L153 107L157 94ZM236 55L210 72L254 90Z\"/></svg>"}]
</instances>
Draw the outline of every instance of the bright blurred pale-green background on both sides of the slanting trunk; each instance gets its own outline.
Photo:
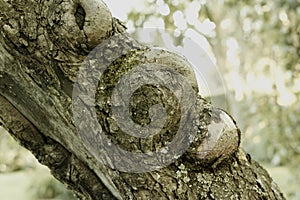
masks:
<instances>
[{"instance_id":1,"label":"bright blurred pale-green background on both sides of the slanting trunk","mask_svg":"<svg viewBox=\"0 0 300 200\"><path fill-rule=\"evenodd\" d=\"M300 199L300 3L105 2L113 16L124 21L129 30L167 30L171 37L163 37L163 47L181 52L188 44L186 38L201 46L209 60L203 62L203 52L193 54L202 59L201 66L193 63L202 74L197 77L200 94L234 116L242 130L243 148L269 171L287 199ZM159 33L148 35L148 42L155 41ZM137 37L147 40L145 35ZM191 54L185 56L189 59ZM12 195L21 192L28 199L71 198L3 130L0 173L0 199L16 199ZM14 184L7 183L22 186L16 191Z\"/></svg>"}]
</instances>

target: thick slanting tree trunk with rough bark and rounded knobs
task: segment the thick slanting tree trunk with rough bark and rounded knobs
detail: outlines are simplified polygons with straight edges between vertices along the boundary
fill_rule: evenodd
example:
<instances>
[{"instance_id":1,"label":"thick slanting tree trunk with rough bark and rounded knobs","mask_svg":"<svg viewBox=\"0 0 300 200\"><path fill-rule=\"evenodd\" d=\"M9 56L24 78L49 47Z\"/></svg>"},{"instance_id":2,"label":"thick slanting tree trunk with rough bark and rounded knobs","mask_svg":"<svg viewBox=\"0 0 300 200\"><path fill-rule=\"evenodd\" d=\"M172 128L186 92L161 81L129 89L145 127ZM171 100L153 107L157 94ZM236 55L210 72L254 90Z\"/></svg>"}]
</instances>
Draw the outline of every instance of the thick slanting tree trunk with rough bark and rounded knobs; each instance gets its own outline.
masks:
<instances>
[{"instance_id":1,"label":"thick slanting tree trunk with rough bark and rounded knobs","mask_svg":"<svg viewBox=\"0 0 300 200\"><path fill-rule=\"evenodd\" d=\"M102 1L0 7L0 125L80 199L284 199L188 62L121 33Z\"/></svg>"}]
</instances>

